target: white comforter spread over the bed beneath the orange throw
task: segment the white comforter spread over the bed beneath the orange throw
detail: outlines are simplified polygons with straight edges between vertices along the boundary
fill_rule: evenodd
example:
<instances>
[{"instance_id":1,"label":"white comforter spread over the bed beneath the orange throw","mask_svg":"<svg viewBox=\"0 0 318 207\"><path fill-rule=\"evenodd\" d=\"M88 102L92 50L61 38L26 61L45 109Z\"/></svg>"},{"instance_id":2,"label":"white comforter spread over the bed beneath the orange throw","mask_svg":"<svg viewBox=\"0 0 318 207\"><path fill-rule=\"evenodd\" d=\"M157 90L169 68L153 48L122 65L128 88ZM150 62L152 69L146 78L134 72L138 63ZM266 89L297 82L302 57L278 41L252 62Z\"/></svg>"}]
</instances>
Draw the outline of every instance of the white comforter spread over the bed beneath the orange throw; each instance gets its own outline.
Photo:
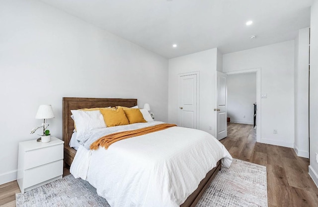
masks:
<instances>
[{"instance_id":1,"label":"white comforter spread over the bed beneath the orange throw","mask_svg":"<svg viewBox=\"0 0 318 207\"><path fill-rule=\"evenodd\" d=\"M129 130L162 122L130 124ZM115 127L97 130L97 136ZM124 130L118 127L119 131ZM96 140L85 138L83 145ZM90 140L90 141L89 141ZM198 187L207 172L232 157L211 134L171 127L118 141L106 150L80 146L71 166L75 178L87 180L111 207L178 207Z\"/></svg>"}]
</instances>

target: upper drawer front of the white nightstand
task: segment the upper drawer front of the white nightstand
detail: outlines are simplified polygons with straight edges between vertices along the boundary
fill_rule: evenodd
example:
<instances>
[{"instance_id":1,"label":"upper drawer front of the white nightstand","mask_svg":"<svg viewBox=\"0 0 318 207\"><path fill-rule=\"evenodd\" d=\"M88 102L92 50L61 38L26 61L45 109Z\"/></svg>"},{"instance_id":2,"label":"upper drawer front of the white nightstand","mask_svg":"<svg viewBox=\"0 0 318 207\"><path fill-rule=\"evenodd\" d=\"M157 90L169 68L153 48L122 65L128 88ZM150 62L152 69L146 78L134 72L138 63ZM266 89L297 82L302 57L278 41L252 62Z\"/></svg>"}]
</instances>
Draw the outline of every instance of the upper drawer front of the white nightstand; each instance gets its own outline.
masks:
<instances>
[{"instance_id":1,"label":"upper drawer front of the white nightstand","mask_svg":"<svg viewBox=\"0 0 318 207\"><path fill-rule=\"evenodd\" d=\"M27 170L62 159L63 144L26 151L24 169Z\"/></svg>"}]
</instances>

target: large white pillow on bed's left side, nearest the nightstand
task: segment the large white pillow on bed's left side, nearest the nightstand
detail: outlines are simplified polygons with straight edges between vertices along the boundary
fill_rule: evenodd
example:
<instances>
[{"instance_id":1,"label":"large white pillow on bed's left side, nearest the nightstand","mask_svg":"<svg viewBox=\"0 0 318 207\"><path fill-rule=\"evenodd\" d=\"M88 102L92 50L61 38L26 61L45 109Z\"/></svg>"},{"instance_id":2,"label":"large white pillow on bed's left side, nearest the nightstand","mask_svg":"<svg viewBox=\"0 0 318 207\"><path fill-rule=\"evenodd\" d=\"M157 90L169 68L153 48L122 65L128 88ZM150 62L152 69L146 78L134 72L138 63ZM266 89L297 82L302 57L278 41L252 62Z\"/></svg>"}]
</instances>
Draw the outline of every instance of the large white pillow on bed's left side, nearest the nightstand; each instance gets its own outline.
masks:
<instances>
[{"instance_id":1,"label":"large white pillow on bed's left side, nearest the nightstand","mask_svg":"<svg viewBox=\"0 0 318 207\"><path fill-rule=\"evenodd\" d=\"M82 134L97 128L105 128L105 121L103 115L99 110L84 111L84 110L71 110L76 124L76 131Z\"/></svg>"}]
</instances>

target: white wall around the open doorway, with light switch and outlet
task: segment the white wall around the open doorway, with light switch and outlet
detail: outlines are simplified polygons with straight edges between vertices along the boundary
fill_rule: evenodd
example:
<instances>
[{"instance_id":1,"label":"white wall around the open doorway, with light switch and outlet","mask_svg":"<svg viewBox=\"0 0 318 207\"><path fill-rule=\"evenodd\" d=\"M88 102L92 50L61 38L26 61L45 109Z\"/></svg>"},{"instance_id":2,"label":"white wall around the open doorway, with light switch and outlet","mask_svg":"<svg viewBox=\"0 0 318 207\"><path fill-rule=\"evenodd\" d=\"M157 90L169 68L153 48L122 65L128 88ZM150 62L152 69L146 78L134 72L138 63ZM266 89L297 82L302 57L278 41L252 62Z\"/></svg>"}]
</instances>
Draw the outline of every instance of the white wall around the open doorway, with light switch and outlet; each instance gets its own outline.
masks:
<instances>
[{"instance_id":1,"label":"white wall around the open doorway, with light switch and outlet","mask_svg":"<svg viewBox=\"0 0 318 207\"><path fill-rule=\"evenodd\" d=\"M223 55L223 72L252 68L261 68L261 93L267 94L260 141L294 147L294 40Z\"/></svg>"}]
</instances>

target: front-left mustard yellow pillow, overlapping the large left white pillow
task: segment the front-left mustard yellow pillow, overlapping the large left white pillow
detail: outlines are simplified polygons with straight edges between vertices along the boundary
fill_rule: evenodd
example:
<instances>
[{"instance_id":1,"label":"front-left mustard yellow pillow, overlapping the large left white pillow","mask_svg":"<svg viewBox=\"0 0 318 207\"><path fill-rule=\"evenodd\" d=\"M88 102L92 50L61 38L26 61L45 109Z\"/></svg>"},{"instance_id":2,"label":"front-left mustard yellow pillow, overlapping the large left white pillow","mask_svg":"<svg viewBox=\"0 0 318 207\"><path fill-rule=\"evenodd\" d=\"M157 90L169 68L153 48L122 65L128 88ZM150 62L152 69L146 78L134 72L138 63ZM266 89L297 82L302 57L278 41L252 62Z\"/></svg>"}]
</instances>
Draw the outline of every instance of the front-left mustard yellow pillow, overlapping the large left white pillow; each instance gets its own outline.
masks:
<instances>
[{"instance_id":1,"label":"front-left mustard yellow pillow, overlapping the large left white pillow","mask_svg":"<svg viewBox=\"0 0 318 207\"><path fill-rule=\"evenodd\" d=\"M123 108L103 108L100 109L100 112L104 116L104 121L107 127L129 124Z\"/></svg>"}]
</instances>

